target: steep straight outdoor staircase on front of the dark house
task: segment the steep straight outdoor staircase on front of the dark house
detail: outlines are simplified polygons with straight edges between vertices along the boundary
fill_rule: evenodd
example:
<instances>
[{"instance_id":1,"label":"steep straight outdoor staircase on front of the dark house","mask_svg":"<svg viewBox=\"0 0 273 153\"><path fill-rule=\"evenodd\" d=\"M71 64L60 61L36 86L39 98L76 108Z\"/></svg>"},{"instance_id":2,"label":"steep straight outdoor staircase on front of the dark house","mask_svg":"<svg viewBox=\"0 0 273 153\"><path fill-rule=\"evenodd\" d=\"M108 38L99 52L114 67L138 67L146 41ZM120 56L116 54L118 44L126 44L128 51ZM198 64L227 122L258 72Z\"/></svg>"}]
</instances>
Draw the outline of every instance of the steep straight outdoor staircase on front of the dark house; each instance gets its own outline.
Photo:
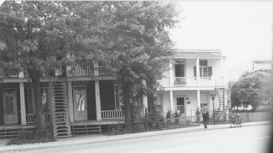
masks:
<instances>
[{"instance_id":1,"label":"steep straight outdoor staircase on front of the dark house","mask_svg":"<svg viewBox=\"0 0 273 153\"><path fill-rule=\"evenodd\" d=\"M49 90L54 137L71 137L66 81L55 80L52 82L50 80Z\"/></svg>"}]
</instances>

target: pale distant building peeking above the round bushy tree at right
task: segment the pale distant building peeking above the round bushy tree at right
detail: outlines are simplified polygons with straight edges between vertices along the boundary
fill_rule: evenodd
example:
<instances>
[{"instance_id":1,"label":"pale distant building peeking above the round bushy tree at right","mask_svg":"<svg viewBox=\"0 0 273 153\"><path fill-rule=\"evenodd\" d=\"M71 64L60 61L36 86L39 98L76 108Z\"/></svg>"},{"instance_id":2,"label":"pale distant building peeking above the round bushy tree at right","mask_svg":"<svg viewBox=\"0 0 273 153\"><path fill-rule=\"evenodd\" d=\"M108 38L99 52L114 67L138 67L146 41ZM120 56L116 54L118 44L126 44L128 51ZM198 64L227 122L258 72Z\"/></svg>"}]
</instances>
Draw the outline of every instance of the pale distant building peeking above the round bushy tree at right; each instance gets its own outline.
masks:
<instances>
[{"instance_id":1,"label":"pale distant building peeking above the round bushy tree at right","mask_svg":"<svg viewBox=\"0 0 273 153\"><path fill-rule=\"evenodd\" d=\"M270 60L255 60L253 61L253 71L271 73L271 61Z\"/></svg>"}]
</instances>

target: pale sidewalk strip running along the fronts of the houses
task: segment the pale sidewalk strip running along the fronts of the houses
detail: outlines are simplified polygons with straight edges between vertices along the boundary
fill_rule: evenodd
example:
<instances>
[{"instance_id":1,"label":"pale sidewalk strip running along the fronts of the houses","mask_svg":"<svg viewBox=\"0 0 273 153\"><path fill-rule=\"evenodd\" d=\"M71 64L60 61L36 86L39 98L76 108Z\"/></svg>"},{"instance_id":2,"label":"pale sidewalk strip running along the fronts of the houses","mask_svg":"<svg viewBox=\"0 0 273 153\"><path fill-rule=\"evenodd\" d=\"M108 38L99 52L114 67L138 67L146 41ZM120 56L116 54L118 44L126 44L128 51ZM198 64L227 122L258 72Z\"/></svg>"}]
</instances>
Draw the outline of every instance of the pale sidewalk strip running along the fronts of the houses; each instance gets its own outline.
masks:
<instances>
[{"instance_id":1,"label":"pale sidewalk strip running along the fronts of the houses","mask_svg":"<svg viewBox=\"0 0 273 153\"><path fill-rule=\"evenodd\" d=\"M270 121L247 122L247 123L244 123L243 126L255 126L255 125L266 125L266 124L270 124ZM20 149L29 150L29 149L41 148L41 147L54 147L54 146L56 147L56 146L87 144L87 143L96 143L96 142L103 142L103 141L113 141L113 140L175 134L175 133L197 132L200 130L212 130L212 129L219 129L219 128L230 128L230 126L229 124L208 125L208 128L204 129L203 124L201 124L200 126L193 126L193 127L184 127L184 128L167 129L167 130L136 133L136 134L116 135L116 136L107 136L103 134L102 135L76 135L75 137L72 137L72 138L59 138L55 142L10 145L10 146L6 146L9 139L0 139L0 152L16 151Z\"/></svg>"}]
</instances>

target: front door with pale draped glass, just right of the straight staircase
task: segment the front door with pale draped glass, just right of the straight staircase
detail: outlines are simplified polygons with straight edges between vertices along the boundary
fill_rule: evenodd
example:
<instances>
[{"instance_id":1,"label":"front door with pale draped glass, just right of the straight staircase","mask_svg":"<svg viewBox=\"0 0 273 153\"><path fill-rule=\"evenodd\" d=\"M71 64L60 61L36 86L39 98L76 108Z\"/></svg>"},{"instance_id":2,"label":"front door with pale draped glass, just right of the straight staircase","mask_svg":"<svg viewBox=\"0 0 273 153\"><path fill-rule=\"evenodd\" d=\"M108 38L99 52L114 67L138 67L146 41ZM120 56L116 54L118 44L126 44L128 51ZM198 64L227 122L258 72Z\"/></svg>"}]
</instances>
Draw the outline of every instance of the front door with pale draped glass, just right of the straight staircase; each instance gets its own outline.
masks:
<instances>
[{"instance_id":1,"label":"front door with pale draped glass, just right of the straight staircase","mask_svg":"<svg viewBox=\"0 0 273 153\"><path fill-rule=\"evenodd\" d=\"M86 86L73 86L73 97L75 121L87 120Z\"/></svg>"}]
</instances>

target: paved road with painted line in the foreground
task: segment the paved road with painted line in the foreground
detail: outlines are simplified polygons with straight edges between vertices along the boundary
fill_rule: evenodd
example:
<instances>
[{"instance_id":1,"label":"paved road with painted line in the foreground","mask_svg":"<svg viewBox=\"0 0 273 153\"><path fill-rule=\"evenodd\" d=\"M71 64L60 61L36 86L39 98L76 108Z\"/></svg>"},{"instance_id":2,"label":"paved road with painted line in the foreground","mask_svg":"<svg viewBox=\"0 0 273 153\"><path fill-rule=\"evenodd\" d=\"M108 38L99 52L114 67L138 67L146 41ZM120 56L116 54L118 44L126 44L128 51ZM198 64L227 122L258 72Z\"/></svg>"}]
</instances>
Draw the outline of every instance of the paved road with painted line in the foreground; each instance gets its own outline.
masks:
<instances>
[{"instance_id":1,"label":"paved road with painted line in the foreground","mask_svg":"<svg viewBox=\"0 0 273 153\"><path fill-rule=\"evenodd\" d=\"M22 152L266 152L270 125L202 130ZM21 152L20 151L20 152Z\"/></svg>"}]
</instances>

